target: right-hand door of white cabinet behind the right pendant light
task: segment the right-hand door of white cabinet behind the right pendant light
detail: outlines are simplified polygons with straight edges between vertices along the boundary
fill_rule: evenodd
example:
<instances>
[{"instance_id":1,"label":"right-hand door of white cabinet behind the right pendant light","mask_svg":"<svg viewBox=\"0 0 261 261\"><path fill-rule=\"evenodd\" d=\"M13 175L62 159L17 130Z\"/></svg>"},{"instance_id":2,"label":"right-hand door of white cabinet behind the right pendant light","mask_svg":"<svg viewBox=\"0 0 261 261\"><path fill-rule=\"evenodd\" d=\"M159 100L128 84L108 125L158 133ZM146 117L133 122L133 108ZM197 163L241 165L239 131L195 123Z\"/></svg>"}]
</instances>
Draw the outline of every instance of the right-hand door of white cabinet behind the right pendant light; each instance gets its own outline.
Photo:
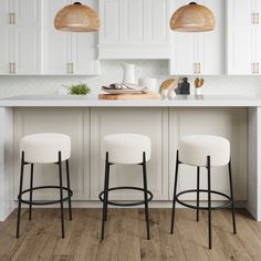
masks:
<instances>
[{"instance_id":1,"label":"right-hand door of white cabinet behind the right pendant light","mask_svg":"<svg viewBox=\"0 0 261 261\"><path fill-rule=\"evenodd\" d=\"M220 75L225 74L225 9L223 0L205 0L200 2L212 10L216 19L216 29L211 32L198 33L197 63L199 74Z\"/></svg>"}]
</instances>

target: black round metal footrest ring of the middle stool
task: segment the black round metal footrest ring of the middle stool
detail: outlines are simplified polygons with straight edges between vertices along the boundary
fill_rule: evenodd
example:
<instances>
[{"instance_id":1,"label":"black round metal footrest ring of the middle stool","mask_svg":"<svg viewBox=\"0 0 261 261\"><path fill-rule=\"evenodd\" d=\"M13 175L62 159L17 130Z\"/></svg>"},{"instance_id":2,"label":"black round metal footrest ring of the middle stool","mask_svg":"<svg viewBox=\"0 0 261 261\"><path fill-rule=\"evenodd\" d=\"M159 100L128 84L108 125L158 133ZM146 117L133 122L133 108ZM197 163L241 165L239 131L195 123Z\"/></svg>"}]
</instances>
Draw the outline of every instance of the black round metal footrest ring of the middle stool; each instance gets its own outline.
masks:
<instances>
[{"instance_id":1,"label":"black round metal footrest ring of the middle stool","mask_svg":"<svg viewBox=\"0 0 261 261\"><path fill-rule=\"evenodd\" d=\"M108 189L108 191L113 191L113 190L139 190L139 191L144 191L143 188L138 188L138 187L114 187L114 188ZM101 201L104 201L104 192L105 191L102 191L98 195L98 198L100 198ZM153 194L149 190L147 190L147 194L149 195L149 198L148 198L148 202L149 202L149 201L153 200ZM121 203L121 202L107 200L107 203L112 205L112 206L117 206L117 207L135 207L135 206L144 205L145 200L135 201L135 202L126 202L126 203L125 202Z\"/></svg>"}]
</instances>

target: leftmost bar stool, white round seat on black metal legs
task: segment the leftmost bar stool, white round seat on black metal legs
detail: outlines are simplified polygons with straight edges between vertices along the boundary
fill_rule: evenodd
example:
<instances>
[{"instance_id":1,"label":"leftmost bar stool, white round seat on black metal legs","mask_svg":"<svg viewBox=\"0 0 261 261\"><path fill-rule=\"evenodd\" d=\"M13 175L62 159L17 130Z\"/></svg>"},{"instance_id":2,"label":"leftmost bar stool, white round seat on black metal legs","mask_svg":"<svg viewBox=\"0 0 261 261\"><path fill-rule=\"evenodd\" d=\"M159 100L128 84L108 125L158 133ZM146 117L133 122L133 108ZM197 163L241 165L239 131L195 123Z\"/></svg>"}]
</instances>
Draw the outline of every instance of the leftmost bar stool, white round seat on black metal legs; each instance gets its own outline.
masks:
<instances>
[{"instance_id":1,"label":"leftmost bar stool, white round seat on black metal legs","mask_svg":"<svg viewBox=\"0 0 261 261\"><path fill-rule=\"evenodd\" d=\"M70 173L69 173L69 158L71 157L71 138L64 134L56 133L42 133L32 134L24 136L20 142L20 154L21 154L21 176L20 176L20 187L18 195L18 221L17 221L17 238L19 238L20 232L20 218L21 218L21 203L29 205L29 220L32 218L32 206L43 206L60 203L61 206L61 227L62 227L62 238L64 238L64 213L63 213L63 202L69 201L69 213L70 220L72 220L72 207L71 197L73 191L70 187ZM67 187L63 187L62 179L62 161L66 164L66 179ZM59 166L59 186L41 186L33 187L33 165L34 164L56 164ZM31 166L30 176L30 188L23 190L23 173L24 166ZM44 189L59 189L60 199L48 200L48 201L33 201L32 196L34 190ZM67 192L67 197L63 197L63 191ZM24 194L29 192L29 200L22 198Z\"/></svg>"}]
</instances>

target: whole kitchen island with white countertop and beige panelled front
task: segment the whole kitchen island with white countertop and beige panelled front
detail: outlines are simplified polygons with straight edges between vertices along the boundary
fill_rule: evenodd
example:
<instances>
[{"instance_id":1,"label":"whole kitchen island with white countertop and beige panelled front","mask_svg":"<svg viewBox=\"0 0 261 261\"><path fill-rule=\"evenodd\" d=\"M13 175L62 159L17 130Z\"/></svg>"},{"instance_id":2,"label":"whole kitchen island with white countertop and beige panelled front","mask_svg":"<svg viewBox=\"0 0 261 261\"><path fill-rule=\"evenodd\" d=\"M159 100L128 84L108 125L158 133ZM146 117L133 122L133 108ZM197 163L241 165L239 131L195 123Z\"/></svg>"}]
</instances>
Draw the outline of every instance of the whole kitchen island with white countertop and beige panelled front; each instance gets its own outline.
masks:
<instances>
[{"instance_id":1,"label":"whole kitchen island with white countertop and beige panelled front","mask_svg":"<svg viewBox=\"0 0 261 261\"><path fill-rule=\"evenodd\" d=\"M96 207L103 187L104 164L101 140L112 133L138 133L152 138L148 187L153 207L169 207L173 198L174 166L182 135L210 134L227 137L231 158L237 205L246 207L261 221L261 100L246 96L177 96L175 100L98 101L72 96L17 96L0 100L0 220L15 208L19 181L19 140L32 133L56 132L72 138L71 178L74 207ZM55 166L36 166L35 185L54 182ZM138 166L113 167L112 186L140 182ZM39 175L38 175L39 174ZM25 175L29 178L29 175ZM28 186L29 180L24 182ZM201 186L206 186L202 171ZM227 168L215 168L213 188L228 194ZM182 166L179 189L196 185L196 169ZM123 197L124 196L124 197ZM36 192L35 199L51 199ZM113 199L137 199L139 194L117 192ZM194 200L188 196L186 200ZM201 200L206 198L202 196ZM215 198L220 200L219 198Z\"/></svg>"}]
</instances>

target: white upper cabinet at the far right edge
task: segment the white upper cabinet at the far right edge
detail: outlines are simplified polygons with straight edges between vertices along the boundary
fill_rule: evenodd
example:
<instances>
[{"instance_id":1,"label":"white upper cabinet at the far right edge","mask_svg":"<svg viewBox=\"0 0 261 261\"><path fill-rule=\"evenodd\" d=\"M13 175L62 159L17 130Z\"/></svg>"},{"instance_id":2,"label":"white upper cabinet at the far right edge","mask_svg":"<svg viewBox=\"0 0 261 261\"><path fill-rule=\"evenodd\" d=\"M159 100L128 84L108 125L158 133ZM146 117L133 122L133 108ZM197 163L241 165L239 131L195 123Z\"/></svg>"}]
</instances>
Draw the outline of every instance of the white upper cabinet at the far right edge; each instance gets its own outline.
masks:
<instances>
[{"instance_id":1,"label":"white upper cabinet at the far right edge","mask_svg":"<svg viewBox=\"0 0 261 261\"><path fill-rule=\"evenodd\" d=\"M261 3L259 0L227 2L228 60L231 75L261 73Z\"/></svg>"}]
</instances>

